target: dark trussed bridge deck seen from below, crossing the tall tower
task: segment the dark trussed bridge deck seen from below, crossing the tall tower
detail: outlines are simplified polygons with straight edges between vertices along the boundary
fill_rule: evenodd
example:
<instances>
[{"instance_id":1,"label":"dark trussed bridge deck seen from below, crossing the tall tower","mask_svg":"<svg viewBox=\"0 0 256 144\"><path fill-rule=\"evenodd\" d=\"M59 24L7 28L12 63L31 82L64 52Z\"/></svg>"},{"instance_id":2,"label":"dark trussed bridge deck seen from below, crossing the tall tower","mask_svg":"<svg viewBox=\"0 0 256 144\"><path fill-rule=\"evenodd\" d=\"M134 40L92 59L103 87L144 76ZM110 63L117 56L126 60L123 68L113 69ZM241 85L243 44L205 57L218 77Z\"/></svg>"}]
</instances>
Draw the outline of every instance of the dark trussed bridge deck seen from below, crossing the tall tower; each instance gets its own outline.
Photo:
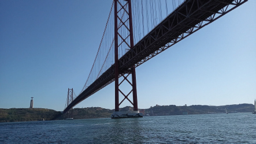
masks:
<instances>
[{"instance_id":1,"label":"dark trussed bridge deck seen from below, crossing the tall tower","mask_svg":"<svg viewBox=\"0 0 256 144\"><path fill-rule=\"evenodd\" d=\"M247 0L187 0L155 26L131 50L119 59L121 74L130 73L130 67L138 67L185 37L224 16ZM232 7L232 8L230 8ZM114 81L114 65L105 71L86 90L64 109L69 109Z\"/></svg>"}]
</instances>

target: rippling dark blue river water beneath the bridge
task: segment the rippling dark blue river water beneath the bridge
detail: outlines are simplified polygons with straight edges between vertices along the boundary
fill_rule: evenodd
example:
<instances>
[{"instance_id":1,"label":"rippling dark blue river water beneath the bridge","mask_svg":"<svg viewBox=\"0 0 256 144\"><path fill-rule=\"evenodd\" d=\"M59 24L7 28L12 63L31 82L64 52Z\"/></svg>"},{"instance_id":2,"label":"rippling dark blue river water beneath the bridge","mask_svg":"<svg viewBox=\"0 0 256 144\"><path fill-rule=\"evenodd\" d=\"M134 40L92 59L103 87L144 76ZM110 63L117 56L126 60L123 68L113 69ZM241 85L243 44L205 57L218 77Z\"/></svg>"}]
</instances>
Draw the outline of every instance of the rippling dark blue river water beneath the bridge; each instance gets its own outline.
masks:
<instances>
[{"instance_id":1,"label":"rippling dark blue river water beneath the bridge","mask_svg":"<svg viewBox=\"0 0 256 144\"><path fill-rule=\"evenodd\" d=\"M147 116L0 123L2 142L256 142L256 115Z\"/></svg>"}]
</instances>

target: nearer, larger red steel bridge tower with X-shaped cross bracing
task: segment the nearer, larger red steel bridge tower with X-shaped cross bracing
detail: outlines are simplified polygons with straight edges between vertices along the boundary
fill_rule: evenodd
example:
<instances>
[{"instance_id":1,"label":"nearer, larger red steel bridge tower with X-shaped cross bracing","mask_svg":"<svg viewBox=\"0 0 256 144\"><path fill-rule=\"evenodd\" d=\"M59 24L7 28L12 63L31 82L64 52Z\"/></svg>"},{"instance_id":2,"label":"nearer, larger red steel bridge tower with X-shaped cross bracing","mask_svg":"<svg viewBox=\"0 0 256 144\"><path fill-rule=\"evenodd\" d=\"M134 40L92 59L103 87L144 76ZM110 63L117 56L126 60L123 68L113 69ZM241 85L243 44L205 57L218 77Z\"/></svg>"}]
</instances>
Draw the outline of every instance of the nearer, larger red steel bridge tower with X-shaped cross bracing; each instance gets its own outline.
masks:
<instances>
[{"instance_id":1,"label":"nearer, larger red steel bridge tower with X-shaped cross bracing","mask_svg":"<svg viewBox=\"0 0 256 144\"><path fill-rule=\"evenodd\" d=\"M118 9L119 5L119 9ZM128 8L127 8L128 7ZM121 12L124 12L124 14L127 14L128 17L124 18L121 16ZM118 15L119 14L119 15ZM120 26L118 26L118 23L121 23ZM127 29L128 35L122 35L122 33L119 31L120 28L124 26ZM129 37L129 38L128 38ZM118 43L118 38L119 43ZM129 40L127 40L129 39ZM130 43L127 43L129 41ZM136 88L136 72L135 72L135 66L130 67L128 70L119 69L119 60L118 60L118 47L122 43L125 43L127 45L128 50L133 48L133 29L132 29L132 9L131 9L131 0L125 1L125 3L122 5L120 1L114 0L114 63L115 63L115 112L112 115L112 118L121 118L121 115L126 115L124 117L142 117L142 113L139 113L138 111L138 101L137 101L137 88ZM124 73L128 75L124 75ZM132 75L132 82L130 82L127 77L129 75ZM123 81L127 81L132 86L132 94L133 94L133 103L131 100L129 100L128 96L131 94L129 92L127 95L125 95L120 89L119 86L123 83L121 81L119 83L118 78L124 77ZM123 94L124 99L119 103L119 92ZM123 103L123 101L127 99L132 105L133 105L133 111L129 112L119 112L119 105Z\"/></svg>"}]
</instances>

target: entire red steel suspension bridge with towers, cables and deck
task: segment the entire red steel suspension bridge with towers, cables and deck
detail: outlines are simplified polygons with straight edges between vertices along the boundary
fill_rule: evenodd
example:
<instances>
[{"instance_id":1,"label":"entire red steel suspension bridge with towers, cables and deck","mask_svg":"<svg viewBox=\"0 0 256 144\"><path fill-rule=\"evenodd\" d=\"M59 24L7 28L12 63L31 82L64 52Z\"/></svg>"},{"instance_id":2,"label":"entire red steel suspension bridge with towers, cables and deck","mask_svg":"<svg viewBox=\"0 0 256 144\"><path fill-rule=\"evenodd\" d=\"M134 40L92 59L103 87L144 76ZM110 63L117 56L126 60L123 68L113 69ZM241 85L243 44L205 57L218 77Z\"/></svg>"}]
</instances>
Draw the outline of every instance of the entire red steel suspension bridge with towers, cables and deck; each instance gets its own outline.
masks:
<instances>
[{"instance_id":1,"label":"entire red steel suspension bridge with towers, cables and deck","mask_svg":"<svg viewBox=\"0 0 256 144\"><path fill-rule=\"evenodd\" d=\"M133 105L134 111L138 111L135 68L246 1L114 0L86 84L81 93L74 98L73 89L68 90L64 113L113 81L115 81L115 111L119 111L119 105L125 99ZM168 13L170 6L173 9ZM166 12L165 18L162 18L165 13L162 10ZM132 81L128 80L129 75ZM120 82L121 77L123 80ZM128 94L124 94L119 89L124 81L132 86ZM132 101L128 98L131 93ZM124 96L121 102L119 94Z\"/></svg>"}]
</instances>

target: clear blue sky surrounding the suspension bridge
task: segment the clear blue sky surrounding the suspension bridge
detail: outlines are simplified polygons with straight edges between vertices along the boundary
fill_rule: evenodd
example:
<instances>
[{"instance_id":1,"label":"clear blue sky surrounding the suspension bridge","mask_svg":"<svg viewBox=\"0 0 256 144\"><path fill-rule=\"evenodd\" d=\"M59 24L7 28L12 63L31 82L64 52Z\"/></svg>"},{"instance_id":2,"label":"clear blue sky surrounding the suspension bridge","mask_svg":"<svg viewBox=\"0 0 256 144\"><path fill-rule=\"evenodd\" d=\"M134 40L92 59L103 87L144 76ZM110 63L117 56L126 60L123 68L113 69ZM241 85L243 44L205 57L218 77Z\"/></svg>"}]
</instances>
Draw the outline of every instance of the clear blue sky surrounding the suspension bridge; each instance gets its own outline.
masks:
<instances>
[{"instance_id":1,"label":"clear blue sky surrounding the suspension bridge","mask_svg":"<svg viewBox=\"0 0 256 144\"><path fill-rule=\"evenodd\" d=\"M68 88L79 94L86 82L111 5L0 1L0 108L28 108L34 97L34 107L62 111ZM244 3L139 66L138 107L253 104L255 6ZM76 107L114 109L114 83Z\"/></svg>"}]
</instances>

